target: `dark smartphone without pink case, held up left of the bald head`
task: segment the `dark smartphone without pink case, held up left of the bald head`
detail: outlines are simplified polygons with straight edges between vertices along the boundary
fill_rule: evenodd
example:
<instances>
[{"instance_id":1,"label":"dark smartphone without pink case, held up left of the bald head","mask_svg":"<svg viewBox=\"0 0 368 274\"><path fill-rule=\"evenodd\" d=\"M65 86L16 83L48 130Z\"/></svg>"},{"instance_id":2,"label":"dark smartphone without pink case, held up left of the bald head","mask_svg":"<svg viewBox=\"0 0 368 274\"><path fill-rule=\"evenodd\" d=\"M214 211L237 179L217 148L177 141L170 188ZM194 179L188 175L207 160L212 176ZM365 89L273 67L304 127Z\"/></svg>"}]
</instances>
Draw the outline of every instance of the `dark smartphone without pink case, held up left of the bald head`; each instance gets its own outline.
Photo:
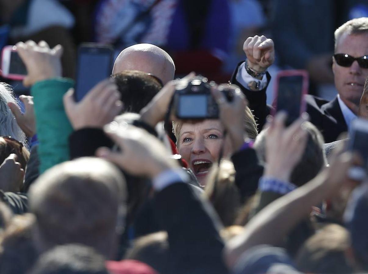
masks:
<instances>
[{"instance_id":1,"label":"dark smartphone without pink case, held up left of the bald head","mask_svg":"<svg viewBox=\"0 0 368 274\"><path fill-rule=\"evenodd\" d=\"M82 100L97 83L110 76L112 52L82 52L78 56L75 99Z\"/></svg>"}]
</instances>

